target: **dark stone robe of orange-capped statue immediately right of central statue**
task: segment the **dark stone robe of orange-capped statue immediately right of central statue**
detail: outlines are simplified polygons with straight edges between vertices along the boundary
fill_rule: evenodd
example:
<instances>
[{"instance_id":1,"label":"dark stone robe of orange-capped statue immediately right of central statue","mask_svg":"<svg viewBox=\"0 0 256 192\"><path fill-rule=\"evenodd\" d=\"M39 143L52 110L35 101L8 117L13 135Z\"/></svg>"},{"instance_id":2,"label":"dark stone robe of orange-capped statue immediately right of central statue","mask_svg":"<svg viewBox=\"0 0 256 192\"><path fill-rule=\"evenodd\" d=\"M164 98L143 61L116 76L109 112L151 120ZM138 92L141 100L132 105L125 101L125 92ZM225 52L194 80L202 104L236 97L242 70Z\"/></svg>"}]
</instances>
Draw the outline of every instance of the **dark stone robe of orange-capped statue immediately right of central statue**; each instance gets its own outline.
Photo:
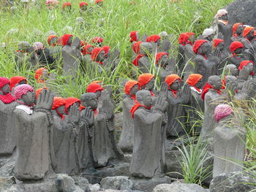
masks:
<instances>
[{"instance_id":1,"label":"dark stone robe of orange-capped statue immediately right of central statue","mask_svg":"<svg viewBox=\"0 0 256 192\"><path fill-rule=\"evenodd\" d=\"M185 134L185 130L181 126L181 123L185 122L184 103L179 91L176 95L177 98L173 96L172 91L168 91L167 93L167 101L169 103L167 107L167 137L176 137Z\"/></svg>"}]
</instances>

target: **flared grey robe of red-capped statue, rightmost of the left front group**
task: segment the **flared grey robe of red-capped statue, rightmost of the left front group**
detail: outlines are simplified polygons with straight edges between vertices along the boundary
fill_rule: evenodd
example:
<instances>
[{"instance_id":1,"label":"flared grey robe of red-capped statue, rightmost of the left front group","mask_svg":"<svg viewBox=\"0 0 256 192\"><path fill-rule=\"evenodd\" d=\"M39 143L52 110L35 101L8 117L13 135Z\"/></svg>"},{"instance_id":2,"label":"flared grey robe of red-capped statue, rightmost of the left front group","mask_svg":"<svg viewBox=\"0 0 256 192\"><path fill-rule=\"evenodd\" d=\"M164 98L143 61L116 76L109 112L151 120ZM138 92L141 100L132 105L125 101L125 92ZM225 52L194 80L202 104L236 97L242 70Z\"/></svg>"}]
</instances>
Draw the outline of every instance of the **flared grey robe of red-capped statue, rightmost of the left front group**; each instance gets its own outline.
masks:
<instances>
[{"instance_id":1,"label":"flared grey robe of red-capped statue, rightmost of the left front group","mask_svg":"<svg viewBox=\"0 0 256 192\"><path fill-rule=\"evenodd\" d=\"M93 147L96 167L107 166L110 159L123 157L116 143L113 118L108 119L103 112L94 118Z\"/></svg>"}]
</instances>

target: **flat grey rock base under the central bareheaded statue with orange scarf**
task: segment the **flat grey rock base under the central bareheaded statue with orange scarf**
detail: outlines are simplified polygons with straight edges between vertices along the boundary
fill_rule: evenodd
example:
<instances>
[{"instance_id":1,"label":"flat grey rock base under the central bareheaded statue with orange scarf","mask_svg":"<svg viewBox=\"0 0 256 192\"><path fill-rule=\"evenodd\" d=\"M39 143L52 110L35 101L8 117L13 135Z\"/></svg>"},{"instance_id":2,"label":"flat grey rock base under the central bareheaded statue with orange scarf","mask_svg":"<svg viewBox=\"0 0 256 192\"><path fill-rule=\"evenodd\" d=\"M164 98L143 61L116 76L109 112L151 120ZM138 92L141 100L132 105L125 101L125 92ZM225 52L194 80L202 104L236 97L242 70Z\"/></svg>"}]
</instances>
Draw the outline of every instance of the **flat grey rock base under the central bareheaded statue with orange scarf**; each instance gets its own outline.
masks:
<instances>
[{"instance_id":1,"label":"flat grey rock base under the central bareheaded statue with orange scarf","mask_svg":"<svg viewBox=\"0 0 256 192\"><path fill-rule=\"evenodd\" d=\"M151 192L157 185L171 183L170 177L152 178L151 180L132 180L133 190Z\"/></svg>"}]
</instances>

